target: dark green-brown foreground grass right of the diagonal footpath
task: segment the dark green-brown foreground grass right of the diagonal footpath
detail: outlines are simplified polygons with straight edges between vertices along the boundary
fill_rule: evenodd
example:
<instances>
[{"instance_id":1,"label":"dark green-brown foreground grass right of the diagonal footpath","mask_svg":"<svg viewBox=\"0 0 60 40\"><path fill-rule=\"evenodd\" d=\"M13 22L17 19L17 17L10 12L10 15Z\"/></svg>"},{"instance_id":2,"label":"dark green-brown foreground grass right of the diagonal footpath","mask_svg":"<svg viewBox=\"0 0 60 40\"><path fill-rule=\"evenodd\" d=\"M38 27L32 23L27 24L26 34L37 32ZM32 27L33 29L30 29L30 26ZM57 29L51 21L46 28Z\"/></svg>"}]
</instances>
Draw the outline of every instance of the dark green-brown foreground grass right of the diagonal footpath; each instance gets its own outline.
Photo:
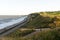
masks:
<instances>
[{"instance_id":1,"label":"dark green-brown foreground grass right of the diagonal footpath","mask_svg":"<svg viewBox=\"0 0 60 40\"><path fill-rule=\"evenodd\" d=\"M60 29L41 31L23 40L60 40Z\"/></svg>"}]
</instances>

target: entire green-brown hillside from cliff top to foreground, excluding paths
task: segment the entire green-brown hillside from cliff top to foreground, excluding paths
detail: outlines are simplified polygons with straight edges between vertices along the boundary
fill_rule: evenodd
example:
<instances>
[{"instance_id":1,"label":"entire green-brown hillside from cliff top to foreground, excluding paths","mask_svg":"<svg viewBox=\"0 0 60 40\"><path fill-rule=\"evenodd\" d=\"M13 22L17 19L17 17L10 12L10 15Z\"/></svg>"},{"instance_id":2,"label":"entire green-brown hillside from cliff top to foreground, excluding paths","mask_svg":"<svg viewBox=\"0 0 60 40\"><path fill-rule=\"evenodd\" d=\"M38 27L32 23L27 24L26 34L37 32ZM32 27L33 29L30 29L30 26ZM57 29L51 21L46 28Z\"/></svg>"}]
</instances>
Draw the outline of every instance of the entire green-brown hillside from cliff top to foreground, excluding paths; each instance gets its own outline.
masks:
<instances>
[{"instance_id":1,"label":"entire green-brown hillside from cliff top to foreground, excluding paths","mask_svg":"<svg viewBox=\"0 0 60 40\"><path fill-rule=\"evenodd\" d=\"M60 39L60 11L54 12L36 12L29 14L30 19L27 24L25 24L22 29L31 29L31 30L16 30L15 32L2 37L6 40L59 40ZM24 36L35 32L32 29L44 29L50 28L38 32L34 35L31 35L27 38L23 38ZM59 29L56 29L59 28ZM41 39L40 39L41 38ZM56 38L56 39L55 39Z\"/></svg>"}]
</instances>

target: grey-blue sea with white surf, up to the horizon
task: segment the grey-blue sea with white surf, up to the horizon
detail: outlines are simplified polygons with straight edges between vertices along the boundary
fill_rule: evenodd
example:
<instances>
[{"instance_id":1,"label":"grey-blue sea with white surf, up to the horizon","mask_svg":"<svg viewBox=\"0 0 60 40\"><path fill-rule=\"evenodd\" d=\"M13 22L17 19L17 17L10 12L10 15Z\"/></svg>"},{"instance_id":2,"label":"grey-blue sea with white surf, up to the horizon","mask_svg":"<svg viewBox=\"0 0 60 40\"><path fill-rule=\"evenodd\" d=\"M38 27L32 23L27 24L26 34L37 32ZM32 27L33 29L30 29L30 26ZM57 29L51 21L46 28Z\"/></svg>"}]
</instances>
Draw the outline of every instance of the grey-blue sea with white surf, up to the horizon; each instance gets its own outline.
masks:
<instances>
[{"instance_id":1,"label":"grey-blue sea with white surf, up to the horizon","mask_svg":"<svg viewBox=\"0 0 60 40\"><path fill-rule=\"evenodd\" d=\"M0 15L0 29L3 29L6 26L12 25L14 23L17 23L21 19L23 20L24 16L25 15Z\"/></svg>"}]
</instances>

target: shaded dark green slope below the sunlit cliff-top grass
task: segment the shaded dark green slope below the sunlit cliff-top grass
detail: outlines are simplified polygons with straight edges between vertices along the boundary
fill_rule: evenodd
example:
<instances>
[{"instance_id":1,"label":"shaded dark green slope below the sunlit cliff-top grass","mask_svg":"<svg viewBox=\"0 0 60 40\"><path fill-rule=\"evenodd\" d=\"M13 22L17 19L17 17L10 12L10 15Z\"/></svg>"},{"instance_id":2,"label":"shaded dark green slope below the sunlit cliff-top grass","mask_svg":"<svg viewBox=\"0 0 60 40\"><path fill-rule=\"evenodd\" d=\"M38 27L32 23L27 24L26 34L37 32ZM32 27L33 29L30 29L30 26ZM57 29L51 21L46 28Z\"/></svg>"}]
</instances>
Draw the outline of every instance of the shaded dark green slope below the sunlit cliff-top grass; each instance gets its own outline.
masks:
<instances>
[{"instance_id":1,"label":"shaded dark green slope below the sunlit cliff-top grass","mask_svg":"<svg viewBox=\"0 0 60 40\"><path fill-rule=\"evenodd\" d=\"M30 20L30 22L27 23L26 28L50 28L49 24L53 23L54 18L43 17L40 14L38 14L34 19L33 17L31 17L31 19L32 20Z\"/></svg>"}]
</instances>

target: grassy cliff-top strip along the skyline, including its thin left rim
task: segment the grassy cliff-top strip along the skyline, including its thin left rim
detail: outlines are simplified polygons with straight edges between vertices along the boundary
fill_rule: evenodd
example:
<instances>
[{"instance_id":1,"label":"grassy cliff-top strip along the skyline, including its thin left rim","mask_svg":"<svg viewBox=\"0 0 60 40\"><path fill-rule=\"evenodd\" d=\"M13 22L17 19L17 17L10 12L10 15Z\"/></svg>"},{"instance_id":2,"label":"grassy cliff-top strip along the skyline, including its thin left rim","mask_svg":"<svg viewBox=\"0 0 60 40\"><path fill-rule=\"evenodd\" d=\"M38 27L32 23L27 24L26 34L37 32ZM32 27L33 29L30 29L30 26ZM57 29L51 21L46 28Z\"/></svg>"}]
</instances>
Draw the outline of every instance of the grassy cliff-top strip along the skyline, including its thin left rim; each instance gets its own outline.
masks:
<instances>
[{"instance_id":1,"label":"grassy cliff-top strip along the skyline, including its thin left rim","mask_svg":"<svg viewBox=\"0 0 60 40\"><path fill-rule=\"evenodd\" d=\"M36 12L42 16L49 16L49 17L55 17L55 16L59 16L60 17L60 11L47 11L47 12ZM36 13L32 13L32 14L36 14Z\"/></svg>"}]
</instances>

